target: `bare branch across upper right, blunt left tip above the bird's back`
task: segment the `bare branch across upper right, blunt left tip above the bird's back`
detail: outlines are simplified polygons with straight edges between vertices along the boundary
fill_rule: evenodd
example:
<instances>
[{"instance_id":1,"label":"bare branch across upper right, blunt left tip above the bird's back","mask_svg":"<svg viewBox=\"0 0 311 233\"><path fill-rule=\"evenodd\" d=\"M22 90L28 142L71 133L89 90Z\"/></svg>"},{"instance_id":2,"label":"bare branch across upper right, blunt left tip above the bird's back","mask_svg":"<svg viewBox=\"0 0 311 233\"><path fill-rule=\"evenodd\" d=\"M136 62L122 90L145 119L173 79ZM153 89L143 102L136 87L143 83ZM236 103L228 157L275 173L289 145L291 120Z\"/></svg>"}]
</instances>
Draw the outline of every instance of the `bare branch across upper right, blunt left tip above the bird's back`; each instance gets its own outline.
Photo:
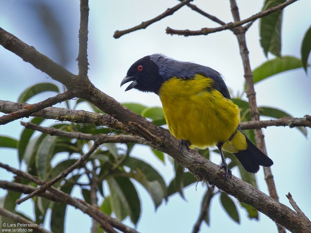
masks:
<instances>
[{"instance_id":1,"label":"bare branch across upper right, blunt left tip above the bird's back","mask_svg":"<svg viewBox=\"0 0 311 233\"><path fill-rule=\"evenodd\" d=\"M252 21L255 21L259 18L267 16L267 15L269 15L275 11L281 11L282 9L284 9L285 7L287 7L288 5L290 5L291 3L296 2L296 1L298 1L298 0L285 1L284 3L281 3L276 7L271 7L269 9L267 9L266 11L258 12L257 14L250 16L244 20L240 21L239 18L237 18L237 20L235 20L234 22L230 22L230 23L227 23L225 25L222 25L222 26L216 27L216 28L202 28L201 30L175 30L175 29L172 29L170 27L167 27L166 33L171 34L171 35L176 34L176 35L183 35L183 36L197 36L197 35L208 35L210 33L219 32L219 31L223 31L223 30L232 30L236 27L244 25L245 23L252 22ZM250 25L248 25L248 27L249 26Z\"/></svg>"}]
</instances>

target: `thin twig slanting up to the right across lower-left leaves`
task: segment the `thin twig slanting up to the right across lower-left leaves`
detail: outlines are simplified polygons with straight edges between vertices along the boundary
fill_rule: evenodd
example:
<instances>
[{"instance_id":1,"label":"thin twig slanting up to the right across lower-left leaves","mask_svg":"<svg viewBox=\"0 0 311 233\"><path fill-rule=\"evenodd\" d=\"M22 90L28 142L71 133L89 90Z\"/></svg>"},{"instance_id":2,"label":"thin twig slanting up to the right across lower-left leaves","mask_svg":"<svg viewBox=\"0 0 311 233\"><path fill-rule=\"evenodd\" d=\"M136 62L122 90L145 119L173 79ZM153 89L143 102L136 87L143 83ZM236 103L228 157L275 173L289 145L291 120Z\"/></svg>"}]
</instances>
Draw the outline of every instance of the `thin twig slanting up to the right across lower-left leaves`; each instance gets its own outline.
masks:
<instances>
[{"instance_id":1,"label":"thin twig slanting up to the right across lower-left leaves","mask_svg":"<svg viewBox=\"0 0 311 233\"><path fill-rule=\"evenodd\" d=\"M58 176L56 176L54 179L46 182L44 185L41 185L40 188L32 192L31 194L27 195L24 198L17 199L16 204L21 204L22 202L32 198L33 196L45 192L45 190L49 187L51 187L53 184L55 184L58 180L66 177L70 172L72 172L74 169L78 168L81 164L83 164L90 156L91 154L96 150L96 148L99 146L99 144L95 141L92 148L87 152L85 155L83 155L81 158L79 158L74 164L72 164L70 167L68 167L66 170L62 171Z\"/></svg>"}]
</instances>

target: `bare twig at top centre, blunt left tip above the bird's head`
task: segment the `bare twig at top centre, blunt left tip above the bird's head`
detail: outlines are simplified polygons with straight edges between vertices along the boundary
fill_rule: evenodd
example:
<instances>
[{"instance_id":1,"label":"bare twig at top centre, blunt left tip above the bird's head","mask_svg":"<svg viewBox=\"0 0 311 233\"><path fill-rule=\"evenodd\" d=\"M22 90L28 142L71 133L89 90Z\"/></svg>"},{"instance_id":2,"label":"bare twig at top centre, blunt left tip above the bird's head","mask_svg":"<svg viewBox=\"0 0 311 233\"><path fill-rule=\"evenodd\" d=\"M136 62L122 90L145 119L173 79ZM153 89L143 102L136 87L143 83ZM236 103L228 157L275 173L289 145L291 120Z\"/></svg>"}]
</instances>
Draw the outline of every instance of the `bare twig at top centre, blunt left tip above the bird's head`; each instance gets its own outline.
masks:
<instances>
[{"instance_id":1,"label":"bare twig at top centre, blunt left tip above the bird's head","mask_svg":"<svg viewBox=\"0 0 311 233\"><path fill-rule=\"evenodd\" d=\"M145 21L145 22L142 22L140 25L137 25L135 27L132 27L132 28L129 28L129 29L126 29L126 30L122 30L122 31L119 31L119 30L116 30L114 32L114 38L117 39L125 34L128 34L130 32L133 32L133 31L137 31L137 30L140 30L140 29L145 29L146 27L148 27L149 25L165 18L166 16L170 16L170 15L173 15L175 11L179 10L181 7L183 7L184 5L186 5L187 3L189 2L192 2L193 0L183 0L182 2L180 2L179 4L177 4L176 6L172 7L172 8L167 8L166 11L164 11L162 14L156 16L155 18L151 19L151 20L148 20L148 21Z\"/></svg>"}]
</instances>

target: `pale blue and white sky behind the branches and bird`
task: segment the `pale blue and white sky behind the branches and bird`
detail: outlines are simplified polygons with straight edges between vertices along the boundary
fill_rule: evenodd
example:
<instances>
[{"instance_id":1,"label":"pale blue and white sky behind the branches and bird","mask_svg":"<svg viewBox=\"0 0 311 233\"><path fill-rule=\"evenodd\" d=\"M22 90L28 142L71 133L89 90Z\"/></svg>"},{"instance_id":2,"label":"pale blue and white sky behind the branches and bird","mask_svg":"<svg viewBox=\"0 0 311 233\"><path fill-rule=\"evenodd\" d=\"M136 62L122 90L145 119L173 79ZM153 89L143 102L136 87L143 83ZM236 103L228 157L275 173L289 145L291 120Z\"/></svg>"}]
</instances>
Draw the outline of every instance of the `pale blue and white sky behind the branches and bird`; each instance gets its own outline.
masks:
<instances>
[{"instance_id":1,"label":"pale blue and white sky behind the branches and bird","mask_svg":"<svg viewBox=\"0 0 311 233\"><path fill-rule=\"evenodd\" d=\"M0 26L16 35L22 41L34 46L39 52L47 55L55 62L60 57L53 42L46 35L46 30L40 24L36 12L29 5L34 1L1 1ZM77 74L79 2L44 1L53 7L65 30L68 42L66 53L69 58L66 68ZM215 3L217 2L217 4ZM262 7L263 1L238 0L241 19L251 16ZM188 7L183 7L174 15L149 26L146 30L139 30L124 35L119 39L112 37L115 30L123 30L142 21L146 21L166 8L176 5L176 0L158 1L90 1L88 58L90 63L89 78L96 87L109 94L121 103L136 102L147 106L161 106L155 94L140 93L136 90L124 93L125 87L120 88L120 81L125 76L129 66L137 59L152 54L164 53L182 61L196 62L210 66L222 73L227 86L233 91L241 93L243 90L243 67L239 55L238 43L230 31L222 31L208 36L182 37L165 34L167 26L174 29L198 30L202 27L215 27L217 24L200 16ZM221 20L232 21L229 1L193 2L203 10L218 16ZM282 54L300 57L300 45L305 31L310 25L310 15L307 9L311 2L301 0L286 8L282 27ZM299 16L299 17L298 17ZM251 67L255 68L266 61L259 45L258 23L256 21L247 33L248 50ZM272 57L272 56L270 56ZM310 60L309 60L310 62ZM0 99L16 101L19 94L27 87L38 82L53 82L51 78L35 69L29 63L23 62L15 54L0 47L1 92ZM311 70L306 76L302 69L289 71L277 75L255 86L258 106L274 106L281 108L295 117L303 117L311 113L310 87ZM59 85L60 86L60 85ZM32 98L31 103L52 96L53 93L41 94ZM245 95L244 95L245 98ZM60 105L62 106L62 105ZM80 107L86 107L80 105ZM263 118L262 119L266 119ZM27 120L27 119L24 119ZM46 122L45 125L54 121ZM19 121L0 126L0 135L18 138L23 128ZM311 143L296 129L289 127L268 127L264 129L268 155L273 159L272 172L275 178L280 202L287 206L285 194L290 192L300 208L311 217L309 197L311 193L310 164ZM309 135L311 130L308 129ZM173 167L169 161L163 165L157 160L146 146L137 146L133 156L142 158L152 164L163 175L165 181L173 177ZM0 160L18 167L14 150L0 149ZM220 158L213 155L211 160L217 164ZM238 175L236 169L233 174ZM259 189L267 193L262 168L257 173ZM1 179L12 180L12 174L0 170ZM192 185L185 189L186 201L178 194L169 198L154 212L153 203L146 191L136 184L142 201L142 216L137 229L141 232L190 232L197 220L201 205L202 194L206 187ZM0 190L0 197L5 191ZM75 189L74 195L81 197L80 190ZM18 209L30 217L33 216L31 203L22 203ZM233 222L220 206L219 198L212 200L211 226L202 224L201 232L276 232L275 224L264 214L260 214L259 221L249 220L244 209L239 208L241 224ZM80 224L83 222L83 224ZM79 223L79 224L77 224ZM126 224L132 224L126 220ZM45 226L47 224L45 223ZM90 218L81 211L69 207L67 209L66 233L89 232Z\"/></svg>"}]
</instances>

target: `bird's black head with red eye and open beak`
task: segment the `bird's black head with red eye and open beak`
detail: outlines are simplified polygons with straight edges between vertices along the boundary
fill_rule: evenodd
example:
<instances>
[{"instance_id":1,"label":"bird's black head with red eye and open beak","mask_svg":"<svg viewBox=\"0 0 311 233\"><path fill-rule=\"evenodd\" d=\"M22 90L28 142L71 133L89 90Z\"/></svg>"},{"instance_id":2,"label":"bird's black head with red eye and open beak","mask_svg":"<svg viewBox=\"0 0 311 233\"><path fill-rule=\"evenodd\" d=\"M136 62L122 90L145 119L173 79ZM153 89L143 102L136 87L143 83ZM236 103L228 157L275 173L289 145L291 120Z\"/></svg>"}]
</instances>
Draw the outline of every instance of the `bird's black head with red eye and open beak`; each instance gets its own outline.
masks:
<instances>
[{"instance_id":1,"label":"bird's black head with red eye and open beak","mask_svg":"<svg viewBox=\"0 0 311 233\"><path fill-rule=\"evenodd\" d=\"M150 59L150 56L139 59L128 69L126 76L121 82L121 86L130 81L133 82L125 91L135 88L140 91L154 92L156 94L158 94L164 82L159 74L159 67Z\"/></svg>"}]
</instances>

